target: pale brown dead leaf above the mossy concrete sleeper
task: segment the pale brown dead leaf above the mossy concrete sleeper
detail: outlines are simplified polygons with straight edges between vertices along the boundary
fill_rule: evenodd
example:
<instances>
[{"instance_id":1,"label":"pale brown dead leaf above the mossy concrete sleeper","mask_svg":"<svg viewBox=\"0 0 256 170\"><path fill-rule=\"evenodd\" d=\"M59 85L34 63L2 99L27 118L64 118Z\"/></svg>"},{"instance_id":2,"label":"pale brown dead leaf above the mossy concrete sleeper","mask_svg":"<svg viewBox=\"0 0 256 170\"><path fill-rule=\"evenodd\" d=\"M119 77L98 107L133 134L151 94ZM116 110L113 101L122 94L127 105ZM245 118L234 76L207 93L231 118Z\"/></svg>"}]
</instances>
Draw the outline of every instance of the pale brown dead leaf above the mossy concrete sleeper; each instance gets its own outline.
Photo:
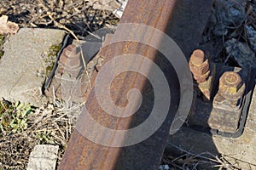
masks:
<instances>
[{"instance_id":1,"label":"pale brown dead leaf above the mossy concrete sleeper","mask_svg":"<svg viewBox=\"0 0 256 170\"><path fill-rule=\"evenodd\" d=\"M15 34L19 30L19 26L11 21L8 21L8 16L2 15L0 17L0 34Z\"/></svg>"}]
</instances>

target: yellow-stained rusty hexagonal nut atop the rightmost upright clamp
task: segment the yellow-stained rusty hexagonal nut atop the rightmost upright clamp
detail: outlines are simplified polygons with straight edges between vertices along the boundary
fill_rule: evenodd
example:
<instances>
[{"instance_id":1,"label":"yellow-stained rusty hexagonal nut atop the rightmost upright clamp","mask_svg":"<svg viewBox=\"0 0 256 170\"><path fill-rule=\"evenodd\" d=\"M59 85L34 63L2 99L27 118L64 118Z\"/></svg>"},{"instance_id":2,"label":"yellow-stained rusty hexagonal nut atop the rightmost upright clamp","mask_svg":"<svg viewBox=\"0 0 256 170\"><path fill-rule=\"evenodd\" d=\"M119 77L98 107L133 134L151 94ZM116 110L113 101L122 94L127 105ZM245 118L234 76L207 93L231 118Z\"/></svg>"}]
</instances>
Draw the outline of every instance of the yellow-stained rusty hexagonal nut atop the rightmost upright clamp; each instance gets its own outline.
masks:
<instances>
[{"instance_id":1,"label":"yellow-stained rusty hexagonal nut atop the rightmost upright clamp","mask_svg":"<svg viewBox=\"0 0 256 170\"><path fill-rule=\"evenodd\" d=\"M245 83L235 71L226 71L219 79L218 92L225 99L241 98L245 90Z\"/></svg>"}]
</instances>

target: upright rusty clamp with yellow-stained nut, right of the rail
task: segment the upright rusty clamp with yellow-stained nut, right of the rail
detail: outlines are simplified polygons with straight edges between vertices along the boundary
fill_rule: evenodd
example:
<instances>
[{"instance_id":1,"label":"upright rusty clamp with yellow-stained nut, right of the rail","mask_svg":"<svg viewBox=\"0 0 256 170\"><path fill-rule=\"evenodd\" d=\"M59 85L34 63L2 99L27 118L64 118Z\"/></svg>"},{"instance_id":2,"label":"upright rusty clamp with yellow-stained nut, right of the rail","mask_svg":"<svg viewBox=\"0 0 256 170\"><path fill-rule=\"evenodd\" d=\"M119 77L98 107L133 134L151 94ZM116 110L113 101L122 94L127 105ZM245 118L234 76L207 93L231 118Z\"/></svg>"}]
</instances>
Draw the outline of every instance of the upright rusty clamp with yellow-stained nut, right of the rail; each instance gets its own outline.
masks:
<instances>
[{"instance_id":1,"label":"upright rusty clamp with yellow-stained nut, right of the rail","mask_svg":"<svg viewBox=\"0 0 256 170\"><path fill-rule=\"evenodd\" d=\"M236 71L225 71L219 78L218 93L213 99L214 112L208 120L212 128L236 133L245 92L245 82Z\"/></svg>"}]
</instances>

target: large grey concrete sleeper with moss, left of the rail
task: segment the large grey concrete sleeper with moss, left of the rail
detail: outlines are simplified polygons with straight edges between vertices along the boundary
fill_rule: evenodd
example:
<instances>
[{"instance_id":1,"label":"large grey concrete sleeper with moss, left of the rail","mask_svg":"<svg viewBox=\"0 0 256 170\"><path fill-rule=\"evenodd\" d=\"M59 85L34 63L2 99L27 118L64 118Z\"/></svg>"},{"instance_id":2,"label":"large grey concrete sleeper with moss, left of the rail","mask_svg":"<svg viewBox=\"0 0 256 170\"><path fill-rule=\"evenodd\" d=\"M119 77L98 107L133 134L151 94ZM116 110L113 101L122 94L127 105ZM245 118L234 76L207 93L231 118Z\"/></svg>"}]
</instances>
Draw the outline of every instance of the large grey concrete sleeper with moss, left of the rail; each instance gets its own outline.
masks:
<instances>
[{"instance_id":1,"label":"large grey concrete sleeper with moss, left of the rail","mask_svg":"<svg viewBox=\"0 0 256 170\"><path fill-rule=\"evenodd\" d=\"M49 62L49 48L60 46L65 34L54 29L22 28L10 36L0 59L0 97L41 105L47 63L54 62Z\"/></svg>"}]
</instances>

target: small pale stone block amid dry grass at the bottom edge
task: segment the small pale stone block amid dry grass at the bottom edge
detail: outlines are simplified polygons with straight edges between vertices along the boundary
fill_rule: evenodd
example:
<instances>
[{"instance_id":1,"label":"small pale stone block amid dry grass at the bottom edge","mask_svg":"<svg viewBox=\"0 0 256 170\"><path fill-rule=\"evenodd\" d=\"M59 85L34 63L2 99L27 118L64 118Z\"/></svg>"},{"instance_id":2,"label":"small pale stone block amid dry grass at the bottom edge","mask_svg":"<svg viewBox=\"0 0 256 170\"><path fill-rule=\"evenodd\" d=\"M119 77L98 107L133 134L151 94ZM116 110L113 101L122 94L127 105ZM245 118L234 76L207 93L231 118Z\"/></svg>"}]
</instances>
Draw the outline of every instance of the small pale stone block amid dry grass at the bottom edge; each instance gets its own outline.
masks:
<instances>
[{"instance_id":1,"label":"small pale stone block amid dry grass at the bottom edge","mask_svg":"<svg viewBox=\"0 0 256 170\"><path fill-rule=\"evenodd\" d=\"M55 170L58 150L58 145L36 145L29 156L27 170Z\"/></svg>"}]
</instances>

